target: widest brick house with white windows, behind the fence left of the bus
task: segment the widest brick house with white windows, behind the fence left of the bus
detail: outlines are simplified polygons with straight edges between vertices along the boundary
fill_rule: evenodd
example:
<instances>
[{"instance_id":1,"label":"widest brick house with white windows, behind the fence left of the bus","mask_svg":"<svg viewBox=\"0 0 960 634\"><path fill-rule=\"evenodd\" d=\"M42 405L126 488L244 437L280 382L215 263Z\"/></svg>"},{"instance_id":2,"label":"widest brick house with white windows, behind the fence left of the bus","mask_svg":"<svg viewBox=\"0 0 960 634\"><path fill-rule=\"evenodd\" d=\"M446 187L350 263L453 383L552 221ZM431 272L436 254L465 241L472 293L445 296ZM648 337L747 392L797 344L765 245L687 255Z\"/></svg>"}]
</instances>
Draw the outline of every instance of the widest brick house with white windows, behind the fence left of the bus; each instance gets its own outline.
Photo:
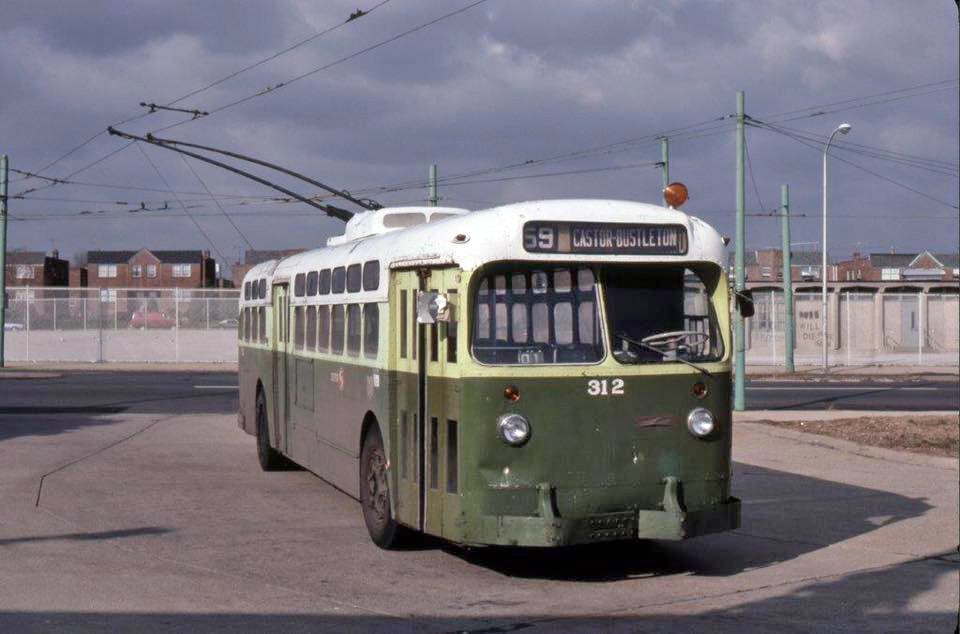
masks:
<instances>
[{"instance_id":1,"label":"widest brick house with white windows, behind the fence left of the bus","mask_svg":"<svg viewBox=\"0 0 960 634\"><path fill-rule=\"evenodd\" d=\"M101 288L214 288L208 251L87 251L87 284Z\"/></svg>"}]
</instances>

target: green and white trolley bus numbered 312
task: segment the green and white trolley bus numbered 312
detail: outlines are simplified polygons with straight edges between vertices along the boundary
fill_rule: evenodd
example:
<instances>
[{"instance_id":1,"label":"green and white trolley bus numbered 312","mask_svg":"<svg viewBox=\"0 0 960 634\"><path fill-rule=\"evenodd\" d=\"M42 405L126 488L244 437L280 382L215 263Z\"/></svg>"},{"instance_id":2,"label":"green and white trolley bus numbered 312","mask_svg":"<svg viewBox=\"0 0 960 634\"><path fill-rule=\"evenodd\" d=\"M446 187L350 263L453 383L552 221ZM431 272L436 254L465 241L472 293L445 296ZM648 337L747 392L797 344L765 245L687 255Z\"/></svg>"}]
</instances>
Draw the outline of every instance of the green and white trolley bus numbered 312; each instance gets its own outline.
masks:
<instances>
[{"instance_id":1,"label":"green and white trolley bus numbered 312","mask_svg":"<svg viewBox=\"0 0 960 634\"><path fill-rule=\"evenodd\" d=\"M672 208L357 214L243 281L239 425L359 499L373 541L736 528L724 243Z\"/></svg>"}]
</instances>

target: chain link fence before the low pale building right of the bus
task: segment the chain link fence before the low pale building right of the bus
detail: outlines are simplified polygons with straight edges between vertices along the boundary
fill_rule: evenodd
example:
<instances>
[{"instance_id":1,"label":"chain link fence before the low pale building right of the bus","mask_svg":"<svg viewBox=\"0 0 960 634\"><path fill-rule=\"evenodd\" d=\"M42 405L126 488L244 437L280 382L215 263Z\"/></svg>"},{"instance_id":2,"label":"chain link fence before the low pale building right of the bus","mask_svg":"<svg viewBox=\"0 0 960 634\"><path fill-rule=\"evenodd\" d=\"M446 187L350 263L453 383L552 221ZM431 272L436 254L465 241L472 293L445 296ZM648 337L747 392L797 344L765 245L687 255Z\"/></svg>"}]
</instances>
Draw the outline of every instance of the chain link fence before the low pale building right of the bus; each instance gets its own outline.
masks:
<instances>
[{"instance_id":1,"label":"chain link fence before the low pale building right of the bus","mask_svg":"<svg viewBox=\"0 0 960 634\"><path fill-rule=\"evenodd\" d=\"M755 290L755 314L746 321L747 363L783 365L786 311L783 293ZM794 363L822 362L820 293L794 294ZM960 295L927 292L827 294L827 354L831 366L957 365Z\"/></svg>"}]
</instances>

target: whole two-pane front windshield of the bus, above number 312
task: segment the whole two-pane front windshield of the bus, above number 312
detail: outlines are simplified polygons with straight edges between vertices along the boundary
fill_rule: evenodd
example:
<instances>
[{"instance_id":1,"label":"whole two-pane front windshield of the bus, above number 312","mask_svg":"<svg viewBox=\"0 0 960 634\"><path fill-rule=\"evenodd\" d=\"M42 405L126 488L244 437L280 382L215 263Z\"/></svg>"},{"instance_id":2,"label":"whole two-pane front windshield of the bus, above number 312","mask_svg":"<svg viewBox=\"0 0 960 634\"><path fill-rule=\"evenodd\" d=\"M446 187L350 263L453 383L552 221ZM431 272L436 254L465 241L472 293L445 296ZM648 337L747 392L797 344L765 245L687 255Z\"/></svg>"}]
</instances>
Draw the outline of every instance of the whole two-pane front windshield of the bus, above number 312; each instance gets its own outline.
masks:
<instances>
[{"instance_id":1,"label":"whole two-pane front windshield of the bus, above number 312","mask_svg":"<svg viewBox=\"0 0 960 634\"><path fill-rule=\"evenodd\" d=\"M493 365L600 362L601 289L608 339L618 362L723 356L710 287L697 272L650 265L596 270L514 266L484 274L474 293L474 358Z\"/></svg>"}]
</instances>

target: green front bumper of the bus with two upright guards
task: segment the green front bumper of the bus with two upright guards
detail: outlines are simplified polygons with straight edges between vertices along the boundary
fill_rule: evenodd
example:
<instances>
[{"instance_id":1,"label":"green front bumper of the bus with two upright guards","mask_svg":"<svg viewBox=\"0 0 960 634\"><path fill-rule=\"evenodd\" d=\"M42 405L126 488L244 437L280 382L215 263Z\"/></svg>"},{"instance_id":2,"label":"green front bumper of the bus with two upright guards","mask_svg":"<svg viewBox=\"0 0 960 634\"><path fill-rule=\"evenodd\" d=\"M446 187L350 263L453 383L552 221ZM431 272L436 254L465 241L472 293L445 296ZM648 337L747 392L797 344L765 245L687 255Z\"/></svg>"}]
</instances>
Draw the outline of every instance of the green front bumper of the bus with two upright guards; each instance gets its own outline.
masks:
<instances>
[{"instance_id":1,"label":"green front bumper of the bus with two upright guards","mask_svg":"<svg viewBox=\"0 0 960 634\"><path fill-rule=\"evenodd\" d=\"M740 500L685 510L676 478L664 480L661 509L604 513L579 518L557 517L549 502L549 485L540 485L540 516L484 516L482 541L508 546L564 546L627 539L681 540L740 526ZM470 540L472 541L472 540Z\"/></svg>"}]
</instances>

